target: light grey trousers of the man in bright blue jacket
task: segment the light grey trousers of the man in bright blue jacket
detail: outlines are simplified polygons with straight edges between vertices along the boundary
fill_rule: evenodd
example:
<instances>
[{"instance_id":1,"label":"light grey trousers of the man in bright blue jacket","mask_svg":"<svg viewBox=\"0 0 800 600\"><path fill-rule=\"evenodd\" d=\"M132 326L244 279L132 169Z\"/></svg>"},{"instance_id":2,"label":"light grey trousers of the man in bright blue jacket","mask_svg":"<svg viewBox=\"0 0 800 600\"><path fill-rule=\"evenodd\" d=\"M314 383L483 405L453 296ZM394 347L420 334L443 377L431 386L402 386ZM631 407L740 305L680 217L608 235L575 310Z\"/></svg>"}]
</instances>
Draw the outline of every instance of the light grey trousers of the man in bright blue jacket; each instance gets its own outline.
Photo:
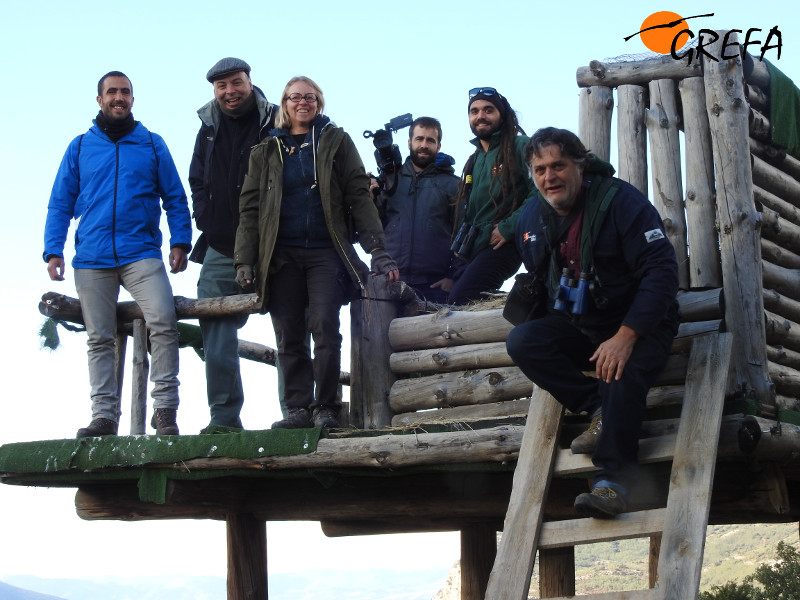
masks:
<instances>
[{"instance_id":1,"label":"light grey trousers of the man in bright blue jacket","mask_svg":"<svg viewBox=\"0 0 800 600\"><path fill-rule=\"evenodd\" d=\"M119 422L114 341L122 285L142 309L150 333L153 408L178 408L178 329L164 263L146 258L111 269L75 269L75 287L88 334L92 419Z\"/></svg>"}]
</instances>

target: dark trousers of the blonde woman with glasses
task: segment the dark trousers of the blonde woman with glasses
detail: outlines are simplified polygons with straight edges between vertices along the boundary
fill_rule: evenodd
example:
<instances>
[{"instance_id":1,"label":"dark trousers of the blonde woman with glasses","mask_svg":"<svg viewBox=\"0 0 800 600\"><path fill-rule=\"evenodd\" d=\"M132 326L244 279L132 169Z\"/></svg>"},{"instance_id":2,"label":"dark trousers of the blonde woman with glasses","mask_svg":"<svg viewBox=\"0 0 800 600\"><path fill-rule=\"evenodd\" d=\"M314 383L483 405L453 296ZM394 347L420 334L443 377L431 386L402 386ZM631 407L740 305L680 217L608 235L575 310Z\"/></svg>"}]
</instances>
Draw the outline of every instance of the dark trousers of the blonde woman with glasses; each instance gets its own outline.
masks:
<instances>
[{"instance_id":1,"label":"dark trousers of the blonde woman with glasses","mask_svg":"<svg viewBox=\"0 0 800 600\"><path fill-rule=\"evenodd\" d=\"M287 408L313 410L324 406L338 410L342 358L339 311L350 286L342 259L333 248L278 246L268 286L267 308L278 340ZM314 340L313 360L306 327Z\"/></svg>"}]
</instances>

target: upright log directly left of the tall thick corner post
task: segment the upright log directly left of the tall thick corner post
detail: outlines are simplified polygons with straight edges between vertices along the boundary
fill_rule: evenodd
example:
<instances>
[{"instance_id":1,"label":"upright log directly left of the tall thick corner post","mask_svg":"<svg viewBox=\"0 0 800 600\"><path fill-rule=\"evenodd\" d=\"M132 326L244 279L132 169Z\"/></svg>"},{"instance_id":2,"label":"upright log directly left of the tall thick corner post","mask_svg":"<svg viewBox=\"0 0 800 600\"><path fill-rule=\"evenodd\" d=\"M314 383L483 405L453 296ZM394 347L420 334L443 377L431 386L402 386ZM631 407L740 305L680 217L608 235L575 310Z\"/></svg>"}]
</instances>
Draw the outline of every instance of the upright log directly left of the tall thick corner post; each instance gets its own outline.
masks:
<instances>
[{"instance_id":1,"label":"upright log directly left of the tall thick corner post","mask_svg":"<svg viewBox=\"0 0 800 600\"><path fill-rule=\"evenodd\" d=\"M686 149L686 221L689 257L689 285L693 288L722 286L722 265L717 240L714 192L714 157L711 131L705 111L703 80L697 77L678 83L683 105L684 147Z\"/></svg>"}]
</instances>

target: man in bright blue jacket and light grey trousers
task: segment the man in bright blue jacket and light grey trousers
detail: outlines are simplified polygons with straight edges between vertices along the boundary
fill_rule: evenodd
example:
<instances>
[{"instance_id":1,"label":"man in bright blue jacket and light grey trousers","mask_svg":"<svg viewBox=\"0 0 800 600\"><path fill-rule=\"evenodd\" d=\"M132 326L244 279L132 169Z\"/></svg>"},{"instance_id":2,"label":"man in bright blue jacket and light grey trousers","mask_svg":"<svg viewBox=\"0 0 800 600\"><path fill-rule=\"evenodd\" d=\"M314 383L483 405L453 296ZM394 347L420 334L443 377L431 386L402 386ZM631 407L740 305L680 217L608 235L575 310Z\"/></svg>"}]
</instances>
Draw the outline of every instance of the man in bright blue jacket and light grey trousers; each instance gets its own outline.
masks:
<instances>
[{"instance_id":1,"label":"man in bright blue jacket and light grey trousers","mask_svg":"<svg viewBox=\"0 0 800 600\"><path fill-rule=\"evenodd\" d=\"M88 334L92 421L77 437L117 433L114 341L120 285L139 304L150 331L151 426L158 434L177 435L177 319L159 221L163 204L170 269L185 270L192 240L186 194L164 140L133 119L130 79L119 71L104 75L97 103L94 125L72 140L61 161L44 236L47 272L53 281L63 281L64 242L70 222L78 221L72 267Z\"/></svg>"}]
</instances>

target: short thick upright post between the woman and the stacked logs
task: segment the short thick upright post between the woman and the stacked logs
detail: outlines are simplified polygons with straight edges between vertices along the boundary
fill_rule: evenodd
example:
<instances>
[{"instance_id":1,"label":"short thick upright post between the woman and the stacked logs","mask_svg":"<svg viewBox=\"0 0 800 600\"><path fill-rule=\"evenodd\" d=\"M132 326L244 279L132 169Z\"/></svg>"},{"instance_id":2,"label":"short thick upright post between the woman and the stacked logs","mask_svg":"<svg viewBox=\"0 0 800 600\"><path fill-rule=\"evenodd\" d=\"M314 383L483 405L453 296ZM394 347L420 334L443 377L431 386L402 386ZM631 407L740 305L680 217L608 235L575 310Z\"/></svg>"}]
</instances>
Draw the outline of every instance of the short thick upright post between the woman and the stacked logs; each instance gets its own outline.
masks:
<instances>
[{"instance_id":1,"label":"short thick upright post between the woman and the stacked logs","mask_svg":"<svg viewBox=\"0 0 800 600\"><path fill-rule=\"evenodd\" d=\"M389 324L397 316L385 275L367 280L365 298L350 308L350 424L360 429L389 427L389 389L395 377L389 369Z\"/></svg>"}]
</instances>

